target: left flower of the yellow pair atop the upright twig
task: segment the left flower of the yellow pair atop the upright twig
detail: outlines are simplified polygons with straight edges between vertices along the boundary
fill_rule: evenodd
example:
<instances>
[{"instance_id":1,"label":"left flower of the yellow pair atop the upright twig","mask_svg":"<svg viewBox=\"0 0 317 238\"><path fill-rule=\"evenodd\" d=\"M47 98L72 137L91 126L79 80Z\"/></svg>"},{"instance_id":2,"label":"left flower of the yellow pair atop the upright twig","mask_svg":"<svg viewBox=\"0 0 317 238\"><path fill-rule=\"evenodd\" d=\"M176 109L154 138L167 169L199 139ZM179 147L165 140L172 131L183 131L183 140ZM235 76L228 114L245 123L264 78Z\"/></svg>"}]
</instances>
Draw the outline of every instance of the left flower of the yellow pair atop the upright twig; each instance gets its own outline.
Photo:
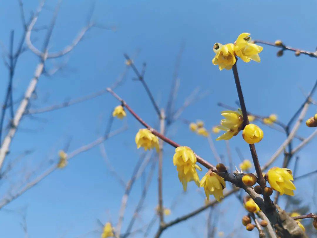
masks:
<instances>
[{"instance_id":1,"label":"left flower of the yellow pair atop the upright twig","mask_svg":"<svg viewBox=\"0 0 317 238\"><path fill-rule=\"evenodd\" d=\"M220 70L231 69L232 65L236 63L236 54L234 51L234 44L216 43L214 45L214 52L216 56L212 59L214 65L218 65Z\"/></svg>"}]
</instances>

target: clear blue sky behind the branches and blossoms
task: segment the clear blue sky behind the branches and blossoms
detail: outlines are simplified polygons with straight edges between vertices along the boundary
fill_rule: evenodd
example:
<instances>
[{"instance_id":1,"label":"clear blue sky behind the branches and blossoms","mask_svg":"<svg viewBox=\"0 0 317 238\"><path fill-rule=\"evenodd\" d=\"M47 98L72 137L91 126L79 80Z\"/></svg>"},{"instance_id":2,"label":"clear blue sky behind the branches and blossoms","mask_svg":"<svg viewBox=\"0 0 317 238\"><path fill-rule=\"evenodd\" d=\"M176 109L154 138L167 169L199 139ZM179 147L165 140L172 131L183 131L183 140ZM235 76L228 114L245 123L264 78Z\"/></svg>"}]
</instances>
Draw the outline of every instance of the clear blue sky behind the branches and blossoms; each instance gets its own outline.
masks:
<instances>
[{"instance_id":1,"label":"clear blue sky behind the branches and blossoms","mask_svg":"<svg viewBox=\"0 0 317 238\"><path fill-rule=\"evenodd\" d=\"M26 16L37 6L37 1L24 1ZM57 1L47 1L36 27L48 24L52 10ZM287 3L287 4L286 4ZM51 51L59 50L70 43L86 22L87 12L91 5L88 0L69 0L61 5L56 26L49 45ZM235 105L236 88L232 72L219 71L212 65L214 57L212 46L216 42L232 43L242 32L251 33L252 38L274 42L282 39L287 45L314 51L317 42L316 2L306 1L101 1L96 3L93 20L107 25L116 25L117 31L92 29L75 50L55 62L50 61L48 69L54 63L68 61L67 68L53 77L42 76L38 83L37 99L32 100L31 108L62 102L68 98L76 98L105 88L122 73L124 53L135 54L137 67L147 63L145 79L160 107L165 107L169 93L174 64L181 44L185 43L184 54L179 69L181 79L176 106L182 105L195 87L209 91L203 100L188 107L182 118L187 120L202 119L207 128L211 128L221 119L222 108L217 102ZM0 40L8 46L10 30L15 30L16 39L20 37L21 20L17 1L2 1L0 8ZM44 32L33 33L38 38L36 46L42 45ZM16 40L17 42L17 40ZM248 64L238 62L238 70L244 92L247 109L269 115L276 113L282 122L288 119L303 102L300 88L308 92L313 86L316 76L316 59L308 56L295 57L293 52L285 52L276 57L277 49L264 46L260 54L261 63ZM22 96L31 79L38 59L26 52L19 59L14 78L14 98ZM129 71L126 83L118 88L117 93L143 119L157 125L155 111L148 100L144 89L132 78ZM0 99L4 97L8 71L0 64L2 89ZM23 158L23 165L28 169L36 168L41 161L55 158L57 151L64 147L68 138L72 137L69 150L87 144L105 129L111 110L118 102L110 95L103 95L93 100L45 114L23 118L11 146L8 159L14 159L25 149L35 152ZM15 108L17 105L15 105ZM316 107L311 106L308 115L313 115ZM132 173L141 151L137 151L134 136L140 124L131 115L127 116L129 129L111 138L105 143L108 156L113 166L126 180ZM8 118L7 118L8 122ZM123 122L116 120L113 128L119 128ZM261 123L259 123L260 125ZM256 145L261 163L275 152L285 135L262 126L264 139ZM308 136L313 129L304 126L300 129L302 136ZM183 122L176 122L169 131L175 141L190 146L199 155L215 163L208 142L205 138L192 134ZM215 138L215 136L214 136ZM225 143L215 142L218 152L225 154ZM297 143L297 141L296 141ZM298 175L316 168L316 140L301 151ZM249 146L241 135L230 140L233 159L236 166L239 159L234 148L239 146L246 158L250 158ZM178 181L176 169L172 164L173 148L165 145L163 197L165 206L169 207L182 188ZM57 159L57 158L56 158ZM227 157L226 157L227 159ZM275 163L281 165L282 158ZM22 167L22 166L21 166ZM293 168L293 163L290 165ZM45 169L45 167L43 167ZM21 178L23 171L17 170L11 182ZM203 173L200 174L200 177ZM314 177L312 177L313 179ZM307 181L296 182L296 195L305 199L305 204L312 205L312 189ZM3 195L10 184L5 183L0 189ZM227 184L230 187L229 184ZM197 193L197 187L191 184L186 195L179 199L178 206L166 220L176 218L201 206L203 196ZM131 217L141 191L141 181L137 181L132 192L132 199L126 210L127 221ZM116 222L123 195L123 189L109 174L106 163L100 155L99 148L90 150L75 157L65 169L55 171L35 188L10 203L6 209L18 210L27 206L27 225L30 237L77 237L100 229L97 219L102 222ZM285 201L281 199L281 204ZM142 211L142 220L147 222L157 204L156 174L150 187ZM240 219L245 211L237 203L234 196L217 206L221 218L218 219L219 231L228 234L233 228L240 226ZM225 213L226 215L223 215ZM205 232L206 214L199 215L175 227L166 230L162 237L196 237ZM21 218L17 215L0 211L1 237L22 237ZM138 222L135 228L142 225ZM156 230L157 224L153 228ZM243 237L256 237L256 231L239 231ZM86 237L100 237L100 233ZM150 235L151 237L151 235ZM201 237L201 236L199 236Z\"/></svg>"}]
</instances>

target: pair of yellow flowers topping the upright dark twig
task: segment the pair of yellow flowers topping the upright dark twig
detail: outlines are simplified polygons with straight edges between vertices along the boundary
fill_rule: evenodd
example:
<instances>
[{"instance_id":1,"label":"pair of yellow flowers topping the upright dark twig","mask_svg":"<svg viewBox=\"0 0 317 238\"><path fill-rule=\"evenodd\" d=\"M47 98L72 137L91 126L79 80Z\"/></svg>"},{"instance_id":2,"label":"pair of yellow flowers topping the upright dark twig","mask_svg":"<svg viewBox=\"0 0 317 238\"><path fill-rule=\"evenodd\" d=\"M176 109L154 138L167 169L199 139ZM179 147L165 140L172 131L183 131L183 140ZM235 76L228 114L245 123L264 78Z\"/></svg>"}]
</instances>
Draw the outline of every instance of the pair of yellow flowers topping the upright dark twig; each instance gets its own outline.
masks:
<instances>
[{"instance_id":1,"label":"pair of yellow flowers topping the upright dark twig","mask_svg":"<svg viewBox=\"0 0 317 238\"><path fill-rule=\"evenodd\" d=\"M216 56L213 58L212 63L218 65L220 70L223 70L232 68L236 63L236 56L240 57L246 63L251 60L260 62L258 54L263 50L263 47L252 43L249 35L249 33L240 34L234 44L214 44L213 50Z\"/></svg>"}]
</instances>

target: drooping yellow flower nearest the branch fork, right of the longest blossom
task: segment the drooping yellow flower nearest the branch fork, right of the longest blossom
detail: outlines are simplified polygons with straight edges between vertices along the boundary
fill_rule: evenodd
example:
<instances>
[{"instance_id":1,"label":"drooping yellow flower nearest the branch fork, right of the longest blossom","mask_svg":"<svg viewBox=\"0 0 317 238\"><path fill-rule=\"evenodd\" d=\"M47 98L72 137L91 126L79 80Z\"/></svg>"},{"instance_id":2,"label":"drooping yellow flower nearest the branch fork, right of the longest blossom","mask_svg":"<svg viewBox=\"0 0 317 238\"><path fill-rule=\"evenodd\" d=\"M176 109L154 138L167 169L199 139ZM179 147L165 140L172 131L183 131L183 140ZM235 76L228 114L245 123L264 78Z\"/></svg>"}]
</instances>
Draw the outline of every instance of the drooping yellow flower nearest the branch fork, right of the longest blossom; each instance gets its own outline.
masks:
<instances>
[{"instance_id":1,"label":"drooping yellow flower nearest the branch fork, right of the longest blossom","mask_svg":"<svg viewBox=\"0 0 317 238\"><path fill-rule=\"evenodd\" d=\"M220 198L223 198L223 189L226 187L226 182L216 173L208 171L201 179L200 187L204 187L208 201L210 194L212 194L215 199L220 202Z\"/></svg>"}]
</instances>

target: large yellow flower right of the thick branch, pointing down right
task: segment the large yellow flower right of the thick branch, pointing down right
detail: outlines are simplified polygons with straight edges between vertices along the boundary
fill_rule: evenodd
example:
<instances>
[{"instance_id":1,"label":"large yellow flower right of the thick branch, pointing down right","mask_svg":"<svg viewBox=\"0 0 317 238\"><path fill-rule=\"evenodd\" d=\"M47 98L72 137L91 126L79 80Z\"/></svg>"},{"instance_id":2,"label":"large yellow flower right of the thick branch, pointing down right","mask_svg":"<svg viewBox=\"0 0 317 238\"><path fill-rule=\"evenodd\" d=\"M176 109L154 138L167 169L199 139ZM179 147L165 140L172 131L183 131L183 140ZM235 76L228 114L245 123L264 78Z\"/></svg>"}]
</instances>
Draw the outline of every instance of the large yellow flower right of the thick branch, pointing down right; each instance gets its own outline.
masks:
<instances>
[{"instance_id":1,"label":"large yellow flower right of the thick branch, pointing down right","mask_svg":"<svg viewBox=\"0 0 317 238\"><path fill-rule=\"evenodd\" d=\"M294 196L296 187L292 183L293 174L290 169L282 169L279 167L273 167L268 170L268 183L273 189L279 191L281 195L284 193L290 196Z\"/></svg>"}]
</instances>

